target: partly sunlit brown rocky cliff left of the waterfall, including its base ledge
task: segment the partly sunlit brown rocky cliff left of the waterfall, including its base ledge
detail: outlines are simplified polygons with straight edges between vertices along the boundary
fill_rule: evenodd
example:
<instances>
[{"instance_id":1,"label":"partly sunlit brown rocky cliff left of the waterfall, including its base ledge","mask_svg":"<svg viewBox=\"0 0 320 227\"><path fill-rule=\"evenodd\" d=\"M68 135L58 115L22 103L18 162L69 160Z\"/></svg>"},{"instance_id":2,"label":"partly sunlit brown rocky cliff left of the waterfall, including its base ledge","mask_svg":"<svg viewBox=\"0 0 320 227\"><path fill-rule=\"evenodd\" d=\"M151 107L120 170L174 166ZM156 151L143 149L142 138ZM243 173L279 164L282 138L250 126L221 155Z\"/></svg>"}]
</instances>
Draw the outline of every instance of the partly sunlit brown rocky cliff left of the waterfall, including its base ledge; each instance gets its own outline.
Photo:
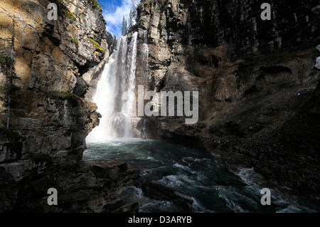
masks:
<instances>
[{"instance_id":1,"label":"partly sunlit brown rocky cliff left of the waterfall, including its base ledge","mask_svg":"<svg viewBox=\"0 0 320 227\"><path fill-rule=\"evenodd\" d=\"M84 97L110 36L97 1L0 1L0 211L101 211L137 176L123 162L80 162L100 117ZM46 202L50 188L59 208Z\"/></svg>"}]
</instances>

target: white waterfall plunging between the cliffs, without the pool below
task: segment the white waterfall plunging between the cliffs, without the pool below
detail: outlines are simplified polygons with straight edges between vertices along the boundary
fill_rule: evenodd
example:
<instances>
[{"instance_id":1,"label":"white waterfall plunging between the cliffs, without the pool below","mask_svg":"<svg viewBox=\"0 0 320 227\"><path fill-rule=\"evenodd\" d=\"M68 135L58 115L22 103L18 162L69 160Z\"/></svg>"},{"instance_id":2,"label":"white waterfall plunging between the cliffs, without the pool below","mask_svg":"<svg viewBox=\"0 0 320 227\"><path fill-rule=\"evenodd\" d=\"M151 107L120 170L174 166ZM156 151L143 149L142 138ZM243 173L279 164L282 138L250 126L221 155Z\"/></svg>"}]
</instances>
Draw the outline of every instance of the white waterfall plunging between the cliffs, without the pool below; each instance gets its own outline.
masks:
<instances>
[{"instance_id":1,"label":"white waterfall plunging between the cliffs, without the pool below","mask_svg":"<svg viewBox=\"0 0 320 227\"><path fill-rule=\"evenodd\" d=\"M117 51L105 65L93 97L102 118L99 127L88 135L87 142L134 136L132 117L136 115L136 100L132 94L136 88L137 38L137 32L129 44L127 36L119 38Z\"/></svg>"}]
</instances>

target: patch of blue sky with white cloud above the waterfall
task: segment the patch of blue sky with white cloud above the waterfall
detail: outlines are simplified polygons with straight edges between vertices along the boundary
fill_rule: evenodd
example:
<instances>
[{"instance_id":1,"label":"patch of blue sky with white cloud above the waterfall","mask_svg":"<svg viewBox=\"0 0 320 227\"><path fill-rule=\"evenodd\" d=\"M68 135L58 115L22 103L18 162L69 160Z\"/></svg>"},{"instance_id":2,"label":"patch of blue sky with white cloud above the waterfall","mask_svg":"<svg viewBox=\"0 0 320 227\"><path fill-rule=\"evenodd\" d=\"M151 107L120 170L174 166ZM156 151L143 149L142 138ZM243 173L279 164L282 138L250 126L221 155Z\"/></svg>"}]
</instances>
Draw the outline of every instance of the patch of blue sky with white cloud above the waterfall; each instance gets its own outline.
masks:
<instances>
[{"instance_id":1,"label":"patch of blue sky with white cloud above the waterfall","mask_svg":"<svg viewBox=\"0 0 320 227\"><path fill-rule=\"evenodd\" d=\"M128 18L132 9L132 0L99 0L102 4L102 14L107 21L107 31L121 36L121 25L123 16Z\"/></svg>"}]
</instances>

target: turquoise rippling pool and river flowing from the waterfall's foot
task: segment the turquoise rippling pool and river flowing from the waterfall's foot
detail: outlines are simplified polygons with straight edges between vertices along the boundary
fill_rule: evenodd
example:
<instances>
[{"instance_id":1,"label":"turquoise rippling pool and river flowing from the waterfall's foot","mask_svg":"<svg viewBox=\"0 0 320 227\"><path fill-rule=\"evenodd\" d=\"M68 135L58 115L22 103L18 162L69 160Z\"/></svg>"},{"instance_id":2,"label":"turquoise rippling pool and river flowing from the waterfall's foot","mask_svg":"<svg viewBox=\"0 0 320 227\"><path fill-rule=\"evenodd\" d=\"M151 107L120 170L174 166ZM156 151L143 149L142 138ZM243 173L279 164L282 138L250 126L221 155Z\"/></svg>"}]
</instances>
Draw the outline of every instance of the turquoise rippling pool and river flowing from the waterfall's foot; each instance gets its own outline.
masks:
<instances>
[{"instance_id":1,"label":"turquoise rippling pool and river flowing from the waterfall's foot","mask_svg":"<svg viewBox=\"0 0 320 227\"><path fill-rule=\"evenodd\" d=\"M254 169L228 171L223 160L207 152L164 141L114 139L87 144L84 160L121 159L142 167L139 181L152 181L174 189L193 201L191 211L208 212L316 212L310 201L268 185ZM272 205L262 206L261 189L272 191ZM119 191L124 201L138 202L139 212L185 212L171 201L144 196L139 186Z\"/></svg>"}]
</instances>

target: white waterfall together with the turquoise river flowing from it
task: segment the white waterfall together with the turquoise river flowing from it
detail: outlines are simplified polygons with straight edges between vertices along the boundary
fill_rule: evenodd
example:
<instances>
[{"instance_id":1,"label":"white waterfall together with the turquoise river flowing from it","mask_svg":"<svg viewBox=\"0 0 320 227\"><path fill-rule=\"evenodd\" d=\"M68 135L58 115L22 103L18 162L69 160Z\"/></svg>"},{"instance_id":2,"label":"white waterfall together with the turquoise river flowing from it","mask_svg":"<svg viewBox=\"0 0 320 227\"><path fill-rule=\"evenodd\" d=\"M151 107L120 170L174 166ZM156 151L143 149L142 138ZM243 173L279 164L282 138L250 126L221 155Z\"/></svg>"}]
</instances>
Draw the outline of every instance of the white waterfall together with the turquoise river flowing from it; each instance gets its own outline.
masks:
<instances>
[{"instance_id":1,"label":"white waterfall together with the turquoise river flowing from it","mask_svg":"<svg viewBox=\"0 0 320 227\"><path fill-rule=\"evenodd\" d=\"M119 198L127 204L139 203L139 212L315 212L309 202L296 196L272 189L254 169L235 172L240 179L225 169L218 157L201 149L183 147L163 141L121 139L119 137L145 137L144 118L134 117L137 63L137 36L129 41L119 38L117 51L110 56L102 78L97 85L94 102L102 114L100 126L87 137L85 160L121 159L132 167L143 167L136 186L126 186L118 191ZM142 55L139 56L143 80L148 81L147 32L144 33ZM140 71L141 70L141 71ZM139 78L141 79L141 78ZM127 92L127 93L125 93ZM127 100L122 100L123 95ZM138 122L140 123L137 127ZM139 129L140 133L137 132ZM176 195L187 199L184 204L144 195L146 181L166 186ZM272 189L272 206L260 204L260 190ZM119 206L122 206L120 203Z\"/></svg>"}]
</instances>

